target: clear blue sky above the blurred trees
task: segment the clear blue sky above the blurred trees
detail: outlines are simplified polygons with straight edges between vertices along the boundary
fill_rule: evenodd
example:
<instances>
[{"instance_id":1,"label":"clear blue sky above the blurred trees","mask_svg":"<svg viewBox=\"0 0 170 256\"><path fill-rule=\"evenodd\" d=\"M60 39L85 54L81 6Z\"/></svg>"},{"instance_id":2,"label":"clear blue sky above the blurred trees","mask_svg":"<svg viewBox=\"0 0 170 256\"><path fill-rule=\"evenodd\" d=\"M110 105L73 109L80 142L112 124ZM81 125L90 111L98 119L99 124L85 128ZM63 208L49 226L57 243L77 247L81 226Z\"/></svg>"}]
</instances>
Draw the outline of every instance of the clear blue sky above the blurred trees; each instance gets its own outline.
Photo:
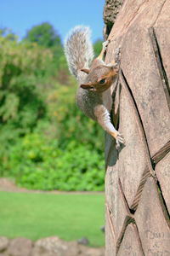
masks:
<instances>
[{"instance_id":1,"label":"clear blue sky above the blurred trees","mask_svg":"<svg viewBox=\"0 0 170 256\"><path fill-rule=\"evenodd\" d=\"M23 38L32 26L48 21L62 41L77 25L90 26L93 42L103 38L105 0L0 0L0 27Z\"/></svg>"}]
</instances>

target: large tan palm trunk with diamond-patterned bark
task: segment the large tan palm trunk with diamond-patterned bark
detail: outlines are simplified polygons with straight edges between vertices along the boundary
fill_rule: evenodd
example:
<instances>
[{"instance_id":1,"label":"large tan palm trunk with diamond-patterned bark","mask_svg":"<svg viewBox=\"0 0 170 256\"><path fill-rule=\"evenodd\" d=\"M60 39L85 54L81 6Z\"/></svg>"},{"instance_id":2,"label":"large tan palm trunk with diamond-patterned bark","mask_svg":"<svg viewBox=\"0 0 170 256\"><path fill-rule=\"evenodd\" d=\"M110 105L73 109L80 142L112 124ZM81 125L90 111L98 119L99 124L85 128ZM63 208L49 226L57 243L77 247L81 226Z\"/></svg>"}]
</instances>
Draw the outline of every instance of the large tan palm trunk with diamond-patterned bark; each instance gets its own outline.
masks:
<instances>
[{"instance_id":1,"label":"large tan palm trunk with diamond-patterned bark","mask_svg":"<svg viewBox=\"0 0 170 256\"><path fill-rule=\"evenodd\" d=\"M106 0L106 2L108 2ZM170 255L170 0L124 0L105 58L121 47L105 135L106 256Z\"/></svg>"}]
</instances>

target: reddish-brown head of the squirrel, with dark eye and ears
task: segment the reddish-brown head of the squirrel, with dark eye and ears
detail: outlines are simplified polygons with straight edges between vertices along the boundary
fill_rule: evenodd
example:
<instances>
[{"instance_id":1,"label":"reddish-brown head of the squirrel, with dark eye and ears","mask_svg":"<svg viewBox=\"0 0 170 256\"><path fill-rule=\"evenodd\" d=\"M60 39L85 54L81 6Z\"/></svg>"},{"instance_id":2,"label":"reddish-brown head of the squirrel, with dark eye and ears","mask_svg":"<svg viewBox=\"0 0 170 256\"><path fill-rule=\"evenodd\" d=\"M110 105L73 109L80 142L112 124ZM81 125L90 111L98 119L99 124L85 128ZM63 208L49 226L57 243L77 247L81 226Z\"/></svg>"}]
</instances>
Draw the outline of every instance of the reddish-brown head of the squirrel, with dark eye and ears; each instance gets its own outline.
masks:
<instances>
[{"instance_id":1,"label":"reddish-brown head of the squirrel, with dark eye and ears","mask_svg":"<svg viewBox=\"0 0 170 256\"><path fill-rule=\"evenodd\" d=\"M94 92L103 92L110 88L118 73L117 67L106 65L99 65L91 69L82 68L81 70L88 73L88 77L87 84L81 84L80 86L84 90Z\"/></svg>"}]
</instances>

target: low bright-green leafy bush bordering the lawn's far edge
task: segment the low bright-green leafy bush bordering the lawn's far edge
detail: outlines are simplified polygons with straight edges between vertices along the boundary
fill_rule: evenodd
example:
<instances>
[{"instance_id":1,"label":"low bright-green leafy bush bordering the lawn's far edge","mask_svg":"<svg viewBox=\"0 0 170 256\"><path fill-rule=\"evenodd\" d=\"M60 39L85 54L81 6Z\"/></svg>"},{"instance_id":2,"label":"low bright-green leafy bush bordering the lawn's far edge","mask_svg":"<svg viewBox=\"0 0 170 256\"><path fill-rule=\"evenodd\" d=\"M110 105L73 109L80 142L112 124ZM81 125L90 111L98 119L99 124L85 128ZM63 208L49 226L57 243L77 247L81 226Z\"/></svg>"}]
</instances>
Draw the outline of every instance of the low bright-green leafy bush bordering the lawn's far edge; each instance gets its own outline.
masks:
<instances>
[{"instance_id":1,"label":"low bright-green leafy bush bordering the lawn's far edge","mask_svg":"<svg viewBox=\"0 0 170 256\"><path fill-rule=\"evenodd\" d=\"M104 190L104 160L86 145L56 141L28 134L11 149L3 166L16 182L28 189Z\"/></svg>"}]
</instances>

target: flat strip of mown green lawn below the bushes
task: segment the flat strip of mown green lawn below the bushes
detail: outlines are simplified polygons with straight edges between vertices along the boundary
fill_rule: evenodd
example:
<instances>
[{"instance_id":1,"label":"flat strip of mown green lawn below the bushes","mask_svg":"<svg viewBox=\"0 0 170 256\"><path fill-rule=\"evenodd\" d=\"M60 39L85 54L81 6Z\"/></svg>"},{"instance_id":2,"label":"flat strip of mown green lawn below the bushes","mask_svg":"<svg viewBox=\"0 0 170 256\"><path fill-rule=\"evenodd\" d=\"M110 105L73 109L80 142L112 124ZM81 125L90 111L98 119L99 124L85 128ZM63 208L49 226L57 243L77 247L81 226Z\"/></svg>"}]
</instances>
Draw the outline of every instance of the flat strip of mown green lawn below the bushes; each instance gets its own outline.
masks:
<instances>
[{"instance_id":1,"label":"flat strip of mown green lawn below the bushes","mask_svg":"<svg viewBox=\"0 0 170 256\"><path fill-rule=\"evenodd\" d=\"M105 245L104 195L0 192L0 236L36 241L59 236L73 241L86 236L90 246Z\"/></svg>"}]
</instances>

